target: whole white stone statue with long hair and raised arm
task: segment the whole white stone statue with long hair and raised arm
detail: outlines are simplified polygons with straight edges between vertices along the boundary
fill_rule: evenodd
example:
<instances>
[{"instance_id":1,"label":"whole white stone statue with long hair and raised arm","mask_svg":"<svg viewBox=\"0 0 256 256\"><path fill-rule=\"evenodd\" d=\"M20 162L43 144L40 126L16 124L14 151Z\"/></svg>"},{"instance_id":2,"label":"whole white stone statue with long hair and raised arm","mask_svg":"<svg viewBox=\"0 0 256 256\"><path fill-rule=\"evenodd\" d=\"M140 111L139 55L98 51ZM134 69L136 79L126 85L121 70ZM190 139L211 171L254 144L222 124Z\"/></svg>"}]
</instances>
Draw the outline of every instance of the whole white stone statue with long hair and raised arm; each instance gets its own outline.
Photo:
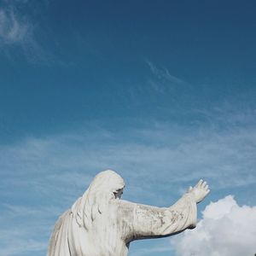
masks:
<instances>
[{"instance_id":1,"label":"whole white stone statue with long hair and raised arm","mask_svg":"<svg viewBox=\"0 0 256 256\"><path fill-rule=\"evenodd\" d=\"M125 256L137 239L171 236L195 228L196 203L209 193L202 180L171 207L120 200L125 183L116 172L100 172L55 224L48 256Z\"/></svg>"}]
</instances>

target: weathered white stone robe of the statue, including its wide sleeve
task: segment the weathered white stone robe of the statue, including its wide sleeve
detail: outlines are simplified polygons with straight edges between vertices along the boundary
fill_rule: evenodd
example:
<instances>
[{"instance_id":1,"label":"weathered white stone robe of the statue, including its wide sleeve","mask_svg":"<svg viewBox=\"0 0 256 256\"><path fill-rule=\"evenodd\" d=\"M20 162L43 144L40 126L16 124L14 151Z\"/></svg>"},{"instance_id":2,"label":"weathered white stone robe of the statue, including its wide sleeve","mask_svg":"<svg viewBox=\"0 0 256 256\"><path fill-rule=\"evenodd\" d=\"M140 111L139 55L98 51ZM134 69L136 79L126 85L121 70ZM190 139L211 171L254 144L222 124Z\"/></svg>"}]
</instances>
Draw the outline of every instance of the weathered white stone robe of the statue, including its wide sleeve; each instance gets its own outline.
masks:
<instances>
[{"instance_id":1,"label":"weathered white stone robe of the statue, including its wide sleeve","mask_svg":"<svg viewBox=\"0 0 256 256\"><path fill-rule=\"evenodd\" d=\"M68 210L55 224L48 256L125 256L131 241L194 228L197 210L194 196L186 193L163 208L112 199L88 229L74 215Z\"/></svg>"}]
</instances>

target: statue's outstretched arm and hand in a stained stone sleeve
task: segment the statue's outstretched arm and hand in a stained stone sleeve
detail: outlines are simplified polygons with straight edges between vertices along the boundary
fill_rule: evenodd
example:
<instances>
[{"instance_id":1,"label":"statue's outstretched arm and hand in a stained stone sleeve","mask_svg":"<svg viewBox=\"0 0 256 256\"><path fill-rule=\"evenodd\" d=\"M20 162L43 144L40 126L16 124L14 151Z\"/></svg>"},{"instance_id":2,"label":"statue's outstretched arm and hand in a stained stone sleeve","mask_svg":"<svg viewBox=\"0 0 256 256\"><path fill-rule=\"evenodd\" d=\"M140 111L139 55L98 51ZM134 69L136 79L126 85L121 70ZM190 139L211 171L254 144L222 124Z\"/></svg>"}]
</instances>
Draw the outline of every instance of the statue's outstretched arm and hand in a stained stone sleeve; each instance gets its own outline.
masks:
<instances>
[{"instance_id":1,"label":"statue's outstretched arm and hand in a stained stone sleeve","mask_svg":"<svg viewBox=\"0 0 256 256\"><path fill-rule=\"evenodd\" d=\"M135 204L133 211L133 240L172 236L186 229L195 228L196 203L209 193L207 183L200 181L168 208Z\"/></svg>"}]
</instances>

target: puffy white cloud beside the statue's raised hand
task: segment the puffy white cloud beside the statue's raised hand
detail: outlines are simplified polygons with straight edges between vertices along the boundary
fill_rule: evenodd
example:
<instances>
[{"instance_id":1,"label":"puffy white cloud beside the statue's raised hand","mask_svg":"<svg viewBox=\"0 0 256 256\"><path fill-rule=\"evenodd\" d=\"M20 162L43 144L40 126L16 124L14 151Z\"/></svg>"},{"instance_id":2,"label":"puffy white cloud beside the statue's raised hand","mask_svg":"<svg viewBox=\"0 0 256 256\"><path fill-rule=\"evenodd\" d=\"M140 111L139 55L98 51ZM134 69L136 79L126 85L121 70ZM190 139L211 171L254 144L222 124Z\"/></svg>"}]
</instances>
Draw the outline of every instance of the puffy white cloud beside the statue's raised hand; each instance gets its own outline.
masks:
<instances>
[{"instance_id":1,"label":"puffy white cloud beside the statue's raised hand","mask_svg":"<svg viewBox=\"0 0 256 256\"><path fill-rule=\"evenodd\" d=\"M256 207L240 207L228 195L208 205L195 230L172 238L172 246L181 256L253 256L255 227Z\"/></svg>"}]
</instances>

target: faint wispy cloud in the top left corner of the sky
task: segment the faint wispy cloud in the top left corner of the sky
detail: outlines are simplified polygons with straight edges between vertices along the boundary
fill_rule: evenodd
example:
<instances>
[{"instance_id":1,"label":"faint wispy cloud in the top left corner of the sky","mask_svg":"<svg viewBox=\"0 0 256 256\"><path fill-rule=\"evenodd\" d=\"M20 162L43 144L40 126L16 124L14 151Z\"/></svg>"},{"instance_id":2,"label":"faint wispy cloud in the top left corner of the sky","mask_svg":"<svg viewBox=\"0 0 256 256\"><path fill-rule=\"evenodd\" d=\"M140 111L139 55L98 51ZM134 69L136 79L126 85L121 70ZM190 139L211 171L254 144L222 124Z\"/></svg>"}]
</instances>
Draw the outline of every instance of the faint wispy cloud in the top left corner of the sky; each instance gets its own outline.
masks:
<instances>
[{"instance_id":1,"label":"faint wispy cloud in the top left corner of the sky","mask_svg":"<svg viewBox=\"0 0 256 256\"><path fill-rule=\"evenodd\" d=\"M14 49L19 49L27 61L48 64L50 54L35 37L37 20L32 19L28 12L21 11L29 4L26 0L10 0L0 5L0 52L13 61Z\"/></svg>"}]
</instances>

